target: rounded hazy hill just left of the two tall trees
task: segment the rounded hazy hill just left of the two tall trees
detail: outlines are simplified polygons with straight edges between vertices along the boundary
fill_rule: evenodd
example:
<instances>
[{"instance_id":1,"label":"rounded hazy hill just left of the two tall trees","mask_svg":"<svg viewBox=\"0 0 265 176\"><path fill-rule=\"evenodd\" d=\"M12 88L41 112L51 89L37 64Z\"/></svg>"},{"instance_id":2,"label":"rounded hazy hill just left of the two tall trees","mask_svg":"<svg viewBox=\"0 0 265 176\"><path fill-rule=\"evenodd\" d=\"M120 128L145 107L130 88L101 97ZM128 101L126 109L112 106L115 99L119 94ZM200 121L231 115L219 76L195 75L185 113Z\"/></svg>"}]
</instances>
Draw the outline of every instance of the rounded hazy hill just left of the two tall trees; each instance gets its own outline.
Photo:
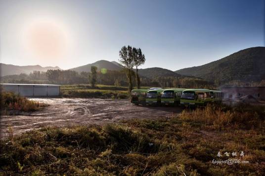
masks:
<instances>
[{"instance_id":1,"label":"rounded hazy hill just left of the two tall trees","mask_svg":"<svg viewBox=\"0 0 265 176\"><path fill-rule=\"evenodd\" d=\"M113 62L115 62L115 61L113 61ZM82 71L90 72L91 66L97 67L97 70L101 70L101 69L122 70L122 67L117 65L118 63L116 64L116 62L115 63L113 63L113 62L100 60L100 61L97 61L97 62L92 63L92 64L76 67L76 68L69 69L69 70L74 70L74 71L77 71L77 72L82 72Z\"/></svg>"}]
</instances>

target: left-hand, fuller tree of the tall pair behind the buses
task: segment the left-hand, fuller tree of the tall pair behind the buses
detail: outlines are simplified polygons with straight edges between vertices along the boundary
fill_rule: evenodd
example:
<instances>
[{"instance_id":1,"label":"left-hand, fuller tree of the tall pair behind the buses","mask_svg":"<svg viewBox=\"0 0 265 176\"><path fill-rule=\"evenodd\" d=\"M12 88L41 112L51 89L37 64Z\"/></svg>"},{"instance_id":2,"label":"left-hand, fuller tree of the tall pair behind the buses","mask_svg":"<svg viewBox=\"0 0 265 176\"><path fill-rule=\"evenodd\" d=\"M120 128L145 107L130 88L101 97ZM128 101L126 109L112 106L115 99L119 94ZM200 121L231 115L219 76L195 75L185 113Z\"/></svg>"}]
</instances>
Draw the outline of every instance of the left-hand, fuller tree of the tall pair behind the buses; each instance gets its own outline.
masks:
<instances>
[{"instance_id":1,"label":"left-hand, fuller tree of the tall pair behind the buses","mask_svg":"<svg viewBox=\"0 0 265 176\"><path fill-rule=\"evenodd\" d=\"M127 74L128 82L129 82L128 91L131 93L131 91L133 90L132 70L134 66L132 46L130 45L128 45L128 47L123 46L119 54L120 54L119 62L126 69L126 74Z\"/></svg>"}]
</instances>

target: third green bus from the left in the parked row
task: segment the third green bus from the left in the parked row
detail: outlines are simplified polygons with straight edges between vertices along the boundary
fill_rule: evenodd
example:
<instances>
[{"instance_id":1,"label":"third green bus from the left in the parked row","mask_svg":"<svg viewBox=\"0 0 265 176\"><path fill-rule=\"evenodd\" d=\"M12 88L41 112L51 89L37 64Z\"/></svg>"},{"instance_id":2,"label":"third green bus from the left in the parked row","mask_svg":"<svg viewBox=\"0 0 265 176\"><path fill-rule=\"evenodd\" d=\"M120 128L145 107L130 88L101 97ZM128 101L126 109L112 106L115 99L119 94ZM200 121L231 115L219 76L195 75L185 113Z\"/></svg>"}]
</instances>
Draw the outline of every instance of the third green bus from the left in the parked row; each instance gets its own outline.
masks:
<instances>
[{"instance_id":1,"label":"third green bus from the left in the parked row","mask_svg":"<svg viewBox=\"0 0 265 176\"><path fill-rule=\"evenodd\" d=\"M179 105L182 91L186 89L165 89L161 96L162 105Z\"/></svg>"}]
</instances>

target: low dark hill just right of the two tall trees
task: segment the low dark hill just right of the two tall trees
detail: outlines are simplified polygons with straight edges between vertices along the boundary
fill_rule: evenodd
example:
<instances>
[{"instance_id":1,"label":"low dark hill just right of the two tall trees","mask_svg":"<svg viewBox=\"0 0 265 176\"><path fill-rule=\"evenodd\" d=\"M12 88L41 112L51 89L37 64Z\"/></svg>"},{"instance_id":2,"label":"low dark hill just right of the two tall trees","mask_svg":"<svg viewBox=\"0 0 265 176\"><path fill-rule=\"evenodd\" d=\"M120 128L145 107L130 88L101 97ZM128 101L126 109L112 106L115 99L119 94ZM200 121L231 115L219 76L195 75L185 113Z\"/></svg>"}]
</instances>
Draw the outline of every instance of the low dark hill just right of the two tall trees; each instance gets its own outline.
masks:
<instances>
[{"instance_id":1,"label":"low dark hill just right of the two tall trees","mask_svg":"<svg viewBox=\"0 0 265 176\"><path fill-rule=\"evenodd\" d=\"M182 75L167 69L162 69L159 67L153 67L148 69L139 69L138 70L139 75L145 76L147 78L154 78L158 76L175 76L175 77L183 77ZM184 76L187 77L187 76Z\"/></svg>"}]
</instances>

